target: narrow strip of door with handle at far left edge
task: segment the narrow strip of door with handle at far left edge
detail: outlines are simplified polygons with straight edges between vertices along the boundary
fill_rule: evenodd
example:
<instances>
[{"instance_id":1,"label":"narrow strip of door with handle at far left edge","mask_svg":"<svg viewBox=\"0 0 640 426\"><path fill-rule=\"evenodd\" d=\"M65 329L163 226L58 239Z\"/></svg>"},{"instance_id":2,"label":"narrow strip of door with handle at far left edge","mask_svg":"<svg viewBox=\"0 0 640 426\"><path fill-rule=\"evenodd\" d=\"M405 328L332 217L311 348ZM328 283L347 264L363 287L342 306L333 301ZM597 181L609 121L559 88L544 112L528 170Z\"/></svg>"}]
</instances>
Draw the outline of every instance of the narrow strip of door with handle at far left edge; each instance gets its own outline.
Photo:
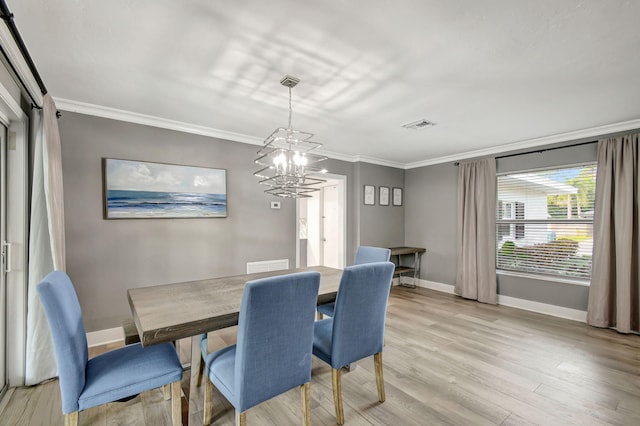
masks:
<instances>
[{"instance_id":1,"label":"narrow strip of door with handle at far left edge","mask_svg":"<svg viewBox=\"0 0 640 426\"><path fill-rule=\"evenodd\" d=\"M7 240L7 128L0 124L0 245L2 267L0 268L0 397L7 388L7 291L6 273L10 269Z\"/></svg>"}]
</instances>

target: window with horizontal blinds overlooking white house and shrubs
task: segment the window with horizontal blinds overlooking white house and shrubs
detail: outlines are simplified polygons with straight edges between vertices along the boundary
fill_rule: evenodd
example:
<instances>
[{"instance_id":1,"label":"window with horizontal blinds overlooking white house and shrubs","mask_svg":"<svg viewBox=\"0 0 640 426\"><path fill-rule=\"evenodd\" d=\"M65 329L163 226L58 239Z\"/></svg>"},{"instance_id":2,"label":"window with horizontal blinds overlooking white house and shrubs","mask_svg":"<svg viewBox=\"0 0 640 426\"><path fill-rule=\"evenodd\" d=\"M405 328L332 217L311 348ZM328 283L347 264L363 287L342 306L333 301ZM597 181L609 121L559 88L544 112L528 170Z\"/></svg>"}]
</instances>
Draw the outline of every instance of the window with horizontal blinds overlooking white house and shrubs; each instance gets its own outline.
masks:
<instances>
[{"instance_id":1,"label":"window with horizontal blinds overlooking white house and shrubs","mask_svg":"<svg viewBox=\"0 0 640 426\"><path fill-rule=\"evenodd\" d=\"M589 280L596 165L498 176L497 269Z\"/></svg>"}]
</instances>

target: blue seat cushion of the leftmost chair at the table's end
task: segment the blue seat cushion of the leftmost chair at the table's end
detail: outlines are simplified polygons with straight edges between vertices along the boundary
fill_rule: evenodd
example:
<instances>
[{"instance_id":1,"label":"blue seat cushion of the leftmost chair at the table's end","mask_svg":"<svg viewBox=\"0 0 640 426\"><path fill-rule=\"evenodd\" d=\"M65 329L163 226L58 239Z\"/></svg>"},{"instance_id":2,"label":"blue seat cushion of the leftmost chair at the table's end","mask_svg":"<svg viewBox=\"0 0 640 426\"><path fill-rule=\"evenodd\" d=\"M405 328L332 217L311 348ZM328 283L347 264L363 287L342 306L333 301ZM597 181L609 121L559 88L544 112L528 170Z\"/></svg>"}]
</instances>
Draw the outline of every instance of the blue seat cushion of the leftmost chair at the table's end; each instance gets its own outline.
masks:
<instances>
[{"instance_id":1,"label":"blue seat cushion of the leftmost chair at the table's end","mask_svg":"<svg viewBox=\"0 0 640 426\"><path fill-rule=\"evenodd\" d=\"M169 343L139 343L106 352L87 363L80 410L117 401L182 379L182 365Z\"/></svg>"}]
</instances>

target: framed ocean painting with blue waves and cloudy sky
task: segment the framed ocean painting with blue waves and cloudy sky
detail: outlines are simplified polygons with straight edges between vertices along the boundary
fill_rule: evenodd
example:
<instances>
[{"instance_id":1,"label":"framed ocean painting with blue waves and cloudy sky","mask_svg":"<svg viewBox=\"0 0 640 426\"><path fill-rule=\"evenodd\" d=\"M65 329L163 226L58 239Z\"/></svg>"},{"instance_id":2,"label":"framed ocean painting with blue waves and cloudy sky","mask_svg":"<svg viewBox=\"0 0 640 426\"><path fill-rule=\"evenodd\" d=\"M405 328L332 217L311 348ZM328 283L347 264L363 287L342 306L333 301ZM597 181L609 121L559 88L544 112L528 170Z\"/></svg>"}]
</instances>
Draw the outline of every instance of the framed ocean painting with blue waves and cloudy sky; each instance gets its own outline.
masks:
<instances>
[{"instance_id":1,"label":"framed ocean painting with blue waves and cloudy sky","mask_svg":"<svg viewBox=\"0 0 640 426\"><path fill-rule=\"evenodd\" d=\"M105 219L227 217L224 169L102 159Z\"/></svg>"}]
</instances>

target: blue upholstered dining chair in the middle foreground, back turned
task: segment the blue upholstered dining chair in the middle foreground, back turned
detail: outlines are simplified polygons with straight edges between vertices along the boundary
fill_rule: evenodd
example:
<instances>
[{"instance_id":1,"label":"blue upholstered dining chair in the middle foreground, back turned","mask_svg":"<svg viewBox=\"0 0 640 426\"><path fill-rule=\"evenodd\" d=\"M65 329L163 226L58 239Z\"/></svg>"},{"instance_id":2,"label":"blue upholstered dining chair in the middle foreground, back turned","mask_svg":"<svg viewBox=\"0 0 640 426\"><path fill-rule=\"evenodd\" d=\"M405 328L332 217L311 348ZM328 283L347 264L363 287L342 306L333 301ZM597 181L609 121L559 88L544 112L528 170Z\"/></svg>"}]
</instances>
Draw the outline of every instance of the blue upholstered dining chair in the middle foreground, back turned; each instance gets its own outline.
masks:
<instances>
[{"instance_id":1,"label":"blue upholstered dining chair in the middle foreground, back turned","mask_svg":"<svg viewBox=\"0 0 640 426\"><path fill-rule=\"evenodd\" d=\"M205 425L212 419L214 385L235 408L237 425L246 424L249 408L300 386L303 424L311 424L311 347L319 287L319 272L246 283L237 344L204 357Z\"/></svg>"}]
</instances>

